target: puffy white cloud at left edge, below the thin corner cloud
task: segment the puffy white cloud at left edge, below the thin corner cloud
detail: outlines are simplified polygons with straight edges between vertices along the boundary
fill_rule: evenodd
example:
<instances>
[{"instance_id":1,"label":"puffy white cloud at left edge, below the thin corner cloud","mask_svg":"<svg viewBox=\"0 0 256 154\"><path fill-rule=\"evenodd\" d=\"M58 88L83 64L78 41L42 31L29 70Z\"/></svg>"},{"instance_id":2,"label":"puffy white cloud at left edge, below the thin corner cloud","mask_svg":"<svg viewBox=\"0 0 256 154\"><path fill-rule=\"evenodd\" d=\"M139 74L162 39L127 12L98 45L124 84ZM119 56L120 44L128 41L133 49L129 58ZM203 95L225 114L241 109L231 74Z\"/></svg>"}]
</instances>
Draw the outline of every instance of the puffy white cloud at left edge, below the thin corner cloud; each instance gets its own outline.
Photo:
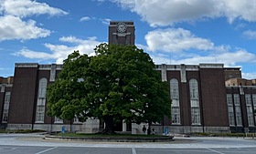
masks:
<instances>
[{"instance_id":1,"label":"puffy white cloud at left edge, below the thin corner cloud","mask_svg":"<svg viewBox=\"0 0 256 154\"><path fill-rule=\"evenodd\" d=\"M37 27L34 20L25 22L13 15L0 16L0 42L11 39L36 39L49 35L50 31Z\"/></svg>"}]
</instances>

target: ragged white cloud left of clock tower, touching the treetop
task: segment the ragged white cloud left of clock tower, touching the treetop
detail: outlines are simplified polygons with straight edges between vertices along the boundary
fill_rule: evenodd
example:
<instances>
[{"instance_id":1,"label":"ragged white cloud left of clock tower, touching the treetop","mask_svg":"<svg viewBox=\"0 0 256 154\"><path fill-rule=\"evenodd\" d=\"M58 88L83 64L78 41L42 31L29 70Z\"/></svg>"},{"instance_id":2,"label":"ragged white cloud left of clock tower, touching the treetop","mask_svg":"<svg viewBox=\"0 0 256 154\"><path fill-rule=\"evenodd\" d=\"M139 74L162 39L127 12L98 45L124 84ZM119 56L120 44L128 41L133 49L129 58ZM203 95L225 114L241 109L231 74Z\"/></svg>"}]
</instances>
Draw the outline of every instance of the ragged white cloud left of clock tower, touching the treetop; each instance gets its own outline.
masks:
<instances>
[{"instance_id":1,"label":"ragged white cloud left of clock tower, touching the treetop","mask_svg":"<svg viewBox=\"0 0 256 154\"><path fill-rule=\"evenodd\" d=\"M28 50L27 48L23 48L19 52L13 54L15 56L25 56L28 58L37 58L37 59L56 59L56 63L61 64L63 60L68 57L73 51L80 51L80 54L87 54L89 56L93 56L95 46L101 44L101 42L96 40L97 37L90 37L87 40L82 40L76 38L75 36L68 36L68 37L61 37L59 41L61 42L69 42L75 43L76 46L65 46L65 45L52 45L52 44L45 44L52 53L48 54L45 52L36 52Z\"/></svg>"}]
</instances>

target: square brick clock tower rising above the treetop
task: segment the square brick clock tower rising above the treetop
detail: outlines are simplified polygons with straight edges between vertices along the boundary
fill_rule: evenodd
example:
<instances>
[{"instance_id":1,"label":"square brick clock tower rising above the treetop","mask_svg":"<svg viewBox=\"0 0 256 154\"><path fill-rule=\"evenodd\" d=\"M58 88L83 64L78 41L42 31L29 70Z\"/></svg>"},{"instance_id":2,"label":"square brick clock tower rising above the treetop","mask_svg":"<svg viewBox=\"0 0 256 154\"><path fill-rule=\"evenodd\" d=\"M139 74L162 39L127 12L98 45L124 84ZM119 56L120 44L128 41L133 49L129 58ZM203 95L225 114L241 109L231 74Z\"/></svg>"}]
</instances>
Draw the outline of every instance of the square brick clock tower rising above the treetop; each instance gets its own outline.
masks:
<instances>
[{"instance_id":1,"label":"square brick clock tower rising above the treetop","mask_svg":"<svg viewBox=\"0 0 256 154\"><path fill-rule=\"evenodd\" d=\"M133 21L111 21L109 26L109 44L134 45L135 27Z\"/></svg>"}]
</instances>

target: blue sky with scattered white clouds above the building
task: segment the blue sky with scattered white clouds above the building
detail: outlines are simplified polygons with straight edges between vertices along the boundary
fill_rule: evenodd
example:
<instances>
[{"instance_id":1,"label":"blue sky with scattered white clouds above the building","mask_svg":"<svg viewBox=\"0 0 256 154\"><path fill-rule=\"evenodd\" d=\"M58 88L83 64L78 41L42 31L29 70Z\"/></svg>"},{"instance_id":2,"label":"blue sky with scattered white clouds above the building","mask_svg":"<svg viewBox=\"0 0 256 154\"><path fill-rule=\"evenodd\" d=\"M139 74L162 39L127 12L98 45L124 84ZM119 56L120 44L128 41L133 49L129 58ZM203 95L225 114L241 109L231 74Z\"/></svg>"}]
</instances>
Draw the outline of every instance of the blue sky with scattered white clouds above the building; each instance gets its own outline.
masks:
<instances>
[{"instance_id":1,"label":"blue sky with scattered white clouds above the building","mask_svg":"<svg viewBox=\"0 0 256 154\"><path fill-rule=\"evenodd\" d=\"M15 63L93 56L110 21L131 21L155 64L222 63L256 78L256 0L0 0L0 77Z\"/></svg>"}]
</instances>

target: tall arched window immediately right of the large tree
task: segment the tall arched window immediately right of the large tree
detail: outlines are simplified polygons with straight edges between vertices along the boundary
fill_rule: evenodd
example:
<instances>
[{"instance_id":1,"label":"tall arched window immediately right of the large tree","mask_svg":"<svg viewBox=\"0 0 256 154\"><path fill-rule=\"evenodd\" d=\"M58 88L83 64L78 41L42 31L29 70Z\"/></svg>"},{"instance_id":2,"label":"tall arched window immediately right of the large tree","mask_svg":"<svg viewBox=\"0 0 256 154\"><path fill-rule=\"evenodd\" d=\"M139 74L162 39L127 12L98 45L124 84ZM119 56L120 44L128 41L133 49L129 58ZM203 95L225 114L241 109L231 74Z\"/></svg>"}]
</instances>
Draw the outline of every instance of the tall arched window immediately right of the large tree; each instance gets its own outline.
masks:
<instances>
[{"instance_id":1,"label":"tall arched window immediately right of the large tree","mask_svg":"<svg viewBox=\"0 0 256 154\"><path fill-rule=\"evenodd\" d=\"M180 124L180 109L179 109L179 94L178 94L178 81L176 78L170 80L170 91L172 98L172 124Z\"/></svg>"}]
</instances>

